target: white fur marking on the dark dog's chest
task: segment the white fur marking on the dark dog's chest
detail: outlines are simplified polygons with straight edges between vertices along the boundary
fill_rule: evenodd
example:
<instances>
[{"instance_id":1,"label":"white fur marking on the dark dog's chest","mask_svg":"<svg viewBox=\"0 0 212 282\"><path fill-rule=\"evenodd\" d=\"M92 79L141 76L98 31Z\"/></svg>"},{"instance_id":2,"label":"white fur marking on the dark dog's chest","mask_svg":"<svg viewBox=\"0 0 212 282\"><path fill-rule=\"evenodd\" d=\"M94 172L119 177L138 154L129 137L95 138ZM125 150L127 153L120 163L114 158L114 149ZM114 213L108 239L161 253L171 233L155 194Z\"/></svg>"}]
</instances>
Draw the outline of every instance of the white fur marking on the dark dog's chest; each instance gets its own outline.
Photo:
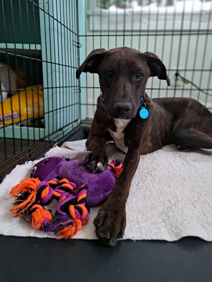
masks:
<instances>
[{"instance_id":1,"label":"white fur marking on the dark dog's chest","mask_svg":"<svg viewBox=\"0 0 212 282\"><path fill-rule=\"evenodd\" d=\"M122 119L114 118L114 122L116 125L116 132L108 129L111 137L114 140L114 143L116 144L116 147L118 147L125 153L127 153L128 147L124 143L124 132L123 131L125 127L127 126L127 124L129 124L130 121L131 120L122 120Z\"/></svg>"}]
</instances>

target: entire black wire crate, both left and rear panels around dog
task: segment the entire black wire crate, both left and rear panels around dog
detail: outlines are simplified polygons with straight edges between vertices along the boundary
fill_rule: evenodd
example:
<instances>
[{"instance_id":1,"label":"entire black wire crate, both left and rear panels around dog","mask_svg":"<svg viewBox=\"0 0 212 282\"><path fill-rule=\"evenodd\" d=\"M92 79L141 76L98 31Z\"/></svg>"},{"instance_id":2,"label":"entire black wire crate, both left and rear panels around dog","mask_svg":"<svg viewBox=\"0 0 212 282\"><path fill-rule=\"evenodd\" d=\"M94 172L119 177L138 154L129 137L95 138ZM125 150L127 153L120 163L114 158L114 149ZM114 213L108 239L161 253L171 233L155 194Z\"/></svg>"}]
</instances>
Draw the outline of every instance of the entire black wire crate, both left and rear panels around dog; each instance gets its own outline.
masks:
<instances>
[{"instance_id":1,"label":"entire black wire crate, both left and rear panels around dog","mask_svg":"<svg viewBox=\"0 0 212 282\"><path fill-rule=\"evenodd\" d=\"M0 104L0 179L92 121L98 75L76 80L75 71L96 48L157 54L171 86L150 78L148 95L212 109L211 12L212 1L198 0L0 0L0 91L10 105L6 112Z\"/></svg>"}]
</instances>

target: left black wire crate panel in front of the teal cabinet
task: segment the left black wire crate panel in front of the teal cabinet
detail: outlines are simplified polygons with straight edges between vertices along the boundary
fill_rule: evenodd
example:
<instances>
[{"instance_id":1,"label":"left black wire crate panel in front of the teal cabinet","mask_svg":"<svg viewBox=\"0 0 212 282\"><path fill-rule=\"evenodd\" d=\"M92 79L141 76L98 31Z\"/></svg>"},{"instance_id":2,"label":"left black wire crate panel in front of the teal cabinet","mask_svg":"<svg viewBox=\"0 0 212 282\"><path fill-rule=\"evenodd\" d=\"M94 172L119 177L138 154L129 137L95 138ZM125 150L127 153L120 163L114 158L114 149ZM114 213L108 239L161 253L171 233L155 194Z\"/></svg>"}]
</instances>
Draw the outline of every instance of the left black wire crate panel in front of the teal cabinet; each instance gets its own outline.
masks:
<instances>
[{"instance_id":1,"label":"left black wire crate panel in front of the teal cabinet","mask_svg":"<svg viewBox=\"0 0 212 282\"><path fill-rule=\"evenodd\" d=\"M0 1L0 179L80 123L77 1Z\"/></svg>"}]
</instances>

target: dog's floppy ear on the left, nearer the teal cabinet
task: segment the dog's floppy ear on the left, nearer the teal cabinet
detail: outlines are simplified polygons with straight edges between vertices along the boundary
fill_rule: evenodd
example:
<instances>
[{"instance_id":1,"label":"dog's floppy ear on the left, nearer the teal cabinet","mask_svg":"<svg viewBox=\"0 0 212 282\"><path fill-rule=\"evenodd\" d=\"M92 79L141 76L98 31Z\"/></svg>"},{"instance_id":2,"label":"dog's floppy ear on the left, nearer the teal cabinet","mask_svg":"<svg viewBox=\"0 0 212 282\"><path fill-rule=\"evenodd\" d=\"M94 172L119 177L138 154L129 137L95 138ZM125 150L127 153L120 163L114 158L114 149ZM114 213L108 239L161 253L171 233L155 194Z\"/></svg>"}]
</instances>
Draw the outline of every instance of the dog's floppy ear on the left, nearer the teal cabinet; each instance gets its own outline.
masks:
<instances>
[{"instance_id":1,"label":"dog's floppy ear on the left, nearer the teal cabinet","mask_svg":"<svg viewBox=\"0 0 212 282\"><path fill-rule=\"evenodd\" d=\"M105 53L107 51L104 48L101 49L95 49L87 56L85 61L82 63L82 65L77 69L76 71L76 78L78 79L80 77L80 74L82 72L90 72L90 73L97 73L98 66L105 56Z\"/></svg>"}]
</instances>

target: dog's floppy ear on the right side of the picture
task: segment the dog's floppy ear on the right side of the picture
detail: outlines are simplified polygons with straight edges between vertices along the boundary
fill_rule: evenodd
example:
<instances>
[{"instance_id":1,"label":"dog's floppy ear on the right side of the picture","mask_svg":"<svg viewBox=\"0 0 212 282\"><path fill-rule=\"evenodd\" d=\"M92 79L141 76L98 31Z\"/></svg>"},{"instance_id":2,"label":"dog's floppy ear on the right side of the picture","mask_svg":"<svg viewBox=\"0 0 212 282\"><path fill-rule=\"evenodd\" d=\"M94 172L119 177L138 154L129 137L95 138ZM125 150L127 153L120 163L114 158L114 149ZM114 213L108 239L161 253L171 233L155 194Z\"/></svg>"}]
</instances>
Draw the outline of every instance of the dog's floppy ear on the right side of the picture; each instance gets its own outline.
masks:
<instances>
[{"instance_id":1,"label":"dog's floppy ear on the right side of the picture","mask_svg":"<svg viewBox=\"0 0 212 282\"><path fill-rule=\"evenodd\" d=\"M150 76L157 76L159 79L166 80L168 86L170 86L170 80L166 74L166 67L158 56L148 51L143 54L146 56L146 61L150 69Z\"/></svg>"}]
</instances>

